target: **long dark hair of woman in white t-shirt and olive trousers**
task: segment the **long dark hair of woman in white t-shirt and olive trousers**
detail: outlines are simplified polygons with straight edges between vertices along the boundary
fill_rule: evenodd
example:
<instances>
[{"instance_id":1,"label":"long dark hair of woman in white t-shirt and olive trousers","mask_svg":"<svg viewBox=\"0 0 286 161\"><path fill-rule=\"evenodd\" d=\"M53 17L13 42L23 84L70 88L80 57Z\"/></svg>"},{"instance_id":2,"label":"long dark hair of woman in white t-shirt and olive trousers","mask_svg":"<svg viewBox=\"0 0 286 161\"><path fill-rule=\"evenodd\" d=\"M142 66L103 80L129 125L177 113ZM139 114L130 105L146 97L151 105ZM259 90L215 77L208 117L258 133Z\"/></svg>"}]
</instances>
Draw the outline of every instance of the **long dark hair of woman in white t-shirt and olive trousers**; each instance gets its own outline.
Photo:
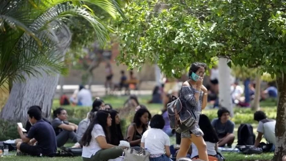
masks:
<instances>
[{"instance_id":1,"label":"long dark hair of woman in white t-shirt and olive trousers","mask_svg":"<svg viewBox=\"0 0 286 161\"><path fill-rule=\"evenodd\" d=\"M91 121L91 123L88 125L88 128L84 132L84 135L81 138L81 143L84 146L89 146L91 141L91 132L94 129L95 124L99 124L102 126L106 142L110 143L110 133L109 133L109 127L107 126L107 117L109 116L108 111L100 110L95 114L95 117Z\"/></svg>"}]
</instances>

